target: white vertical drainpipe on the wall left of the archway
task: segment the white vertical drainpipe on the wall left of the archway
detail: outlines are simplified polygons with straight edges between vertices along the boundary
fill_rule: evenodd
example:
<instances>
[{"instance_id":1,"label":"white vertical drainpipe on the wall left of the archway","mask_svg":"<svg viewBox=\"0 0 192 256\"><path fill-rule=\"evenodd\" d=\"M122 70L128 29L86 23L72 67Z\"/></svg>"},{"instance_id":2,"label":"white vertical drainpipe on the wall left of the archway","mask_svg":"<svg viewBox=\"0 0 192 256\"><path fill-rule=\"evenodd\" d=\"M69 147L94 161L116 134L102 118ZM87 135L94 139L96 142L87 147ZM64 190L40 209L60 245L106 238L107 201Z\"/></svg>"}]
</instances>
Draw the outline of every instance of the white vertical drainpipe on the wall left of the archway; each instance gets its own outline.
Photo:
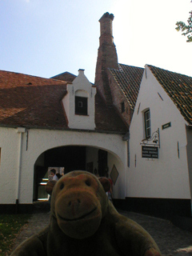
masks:
<instances>
[{"instance_id":1,"label":"white vertical drainpipe on the wall left of the archway","mask_svg":"<svg viewBox=\"0 0 192 256\"><path fill-rule=\"evenodd\" d=\"M16 208L15 214L18 214L18 198L19 198L19 190L20 190L20 179L21 179L21 167L22 167L22 134L26 132L26 128L18 127L17 133L19 136L19 149L18 149L18 183L17 183L17 196L16 196Z\"/></svg>"}]
</instances>

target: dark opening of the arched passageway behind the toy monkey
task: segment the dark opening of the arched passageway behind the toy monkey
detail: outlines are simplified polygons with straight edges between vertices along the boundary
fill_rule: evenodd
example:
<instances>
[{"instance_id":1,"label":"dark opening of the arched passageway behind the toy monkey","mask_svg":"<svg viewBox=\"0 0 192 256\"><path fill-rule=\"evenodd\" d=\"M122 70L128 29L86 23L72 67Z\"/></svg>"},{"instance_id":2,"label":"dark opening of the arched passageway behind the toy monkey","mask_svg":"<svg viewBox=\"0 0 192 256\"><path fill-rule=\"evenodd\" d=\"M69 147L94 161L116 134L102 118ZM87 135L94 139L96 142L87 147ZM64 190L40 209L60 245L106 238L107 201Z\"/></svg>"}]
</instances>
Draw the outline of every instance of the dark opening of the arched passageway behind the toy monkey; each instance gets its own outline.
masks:
<instances>
[{"instance_id":1,"label":"dark opening of the arched passageway behind the toy monkey","mask_svg":"<svg viewBox=\"0 0 192 256\"><path fill-rule=\"evenodd\" d=\"M46 150L34 164L34 195L33 200L46 199L48 195L45 185L49 170L55 168L61 174L72 170L87 170L99 176L109 172L108 152L91 146L60 146Z\"/></svg>"}]
</instances>

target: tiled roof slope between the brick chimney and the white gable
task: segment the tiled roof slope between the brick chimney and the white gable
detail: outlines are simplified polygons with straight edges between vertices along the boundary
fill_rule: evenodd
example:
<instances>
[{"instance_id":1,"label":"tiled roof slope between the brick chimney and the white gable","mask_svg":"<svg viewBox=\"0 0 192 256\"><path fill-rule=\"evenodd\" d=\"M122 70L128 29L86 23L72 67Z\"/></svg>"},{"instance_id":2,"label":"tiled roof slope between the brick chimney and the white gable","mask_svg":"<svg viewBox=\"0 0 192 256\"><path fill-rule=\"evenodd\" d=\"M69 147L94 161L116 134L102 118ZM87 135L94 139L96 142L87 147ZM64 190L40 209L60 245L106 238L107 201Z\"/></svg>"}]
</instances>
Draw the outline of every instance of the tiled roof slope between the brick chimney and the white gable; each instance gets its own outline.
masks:
<instances>
[{"instance_id":1,"label":"tiled roof slope between the brick chimney and the white gable","mask_svg":"<svg viewBox=\"0 0 192 256\"><path fill-rule=\"evenodd\" d=\"M130 108L134 110L135 103L138 98L138 90L142 82L142 74L144 69L137 66L128 66L118 64L119 70L109 69L117 82L122 93L126 96L130 104Z\"/></svg>"}]
</instances>

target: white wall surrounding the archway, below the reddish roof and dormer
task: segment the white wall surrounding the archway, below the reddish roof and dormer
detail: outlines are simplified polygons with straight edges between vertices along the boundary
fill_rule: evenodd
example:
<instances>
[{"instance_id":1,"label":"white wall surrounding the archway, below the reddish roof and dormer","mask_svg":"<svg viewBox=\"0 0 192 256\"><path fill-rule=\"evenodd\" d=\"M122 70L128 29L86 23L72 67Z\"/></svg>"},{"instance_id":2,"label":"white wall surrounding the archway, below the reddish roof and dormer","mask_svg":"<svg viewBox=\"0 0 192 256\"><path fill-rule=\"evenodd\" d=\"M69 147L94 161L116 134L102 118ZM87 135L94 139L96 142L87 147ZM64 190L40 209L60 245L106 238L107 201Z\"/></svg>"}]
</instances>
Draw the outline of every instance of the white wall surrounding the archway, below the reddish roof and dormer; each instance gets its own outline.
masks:
<instances>
[{"instance_id":1,"label":"white wall surrounding the archway, below the reddish roof and dormer","mask_svg":"<svg viewBox=\"0 0 192 256\"><path fill-rule=\"evenodd\" d=\"M17 197L18 145L19 134L16 129L0 128L0 147L2 158L0 166L0 203L13 204ZM99 134L62 130L28 130L22 135L21 178L19 183L19 203L32 203L34 183L34 163L44 151L58 146L93 146L107 150L110 166L116 163L119 177L114 186L114 197L125 198L126 143L118 134ZM27 143L27 145L26 145ZM27 150L26 150L27 146Z\"/></svg>"}]
</instances>

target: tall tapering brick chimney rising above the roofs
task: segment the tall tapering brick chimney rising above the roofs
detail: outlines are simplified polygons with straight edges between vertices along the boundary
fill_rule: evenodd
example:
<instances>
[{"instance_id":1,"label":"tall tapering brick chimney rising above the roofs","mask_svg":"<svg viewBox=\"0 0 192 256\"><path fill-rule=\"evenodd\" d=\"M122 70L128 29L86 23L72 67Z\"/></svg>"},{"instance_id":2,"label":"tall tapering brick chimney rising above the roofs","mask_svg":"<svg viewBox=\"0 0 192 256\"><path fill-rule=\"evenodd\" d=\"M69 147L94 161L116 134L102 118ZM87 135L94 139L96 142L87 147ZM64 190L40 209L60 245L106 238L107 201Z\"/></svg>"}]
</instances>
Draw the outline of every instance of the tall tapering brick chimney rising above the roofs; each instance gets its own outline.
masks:
<instances>
[{"instance_id":1,"label":"tall tapering brick chimney rising above the roofs","mask_svg":"<svg viewBox=\"0 0 192 256\"><path fill-rule=\"evenodd\" d=\"M98 48L98 60L95 71L94 84L105 99L106 104L112 104L107 69L118 69L118 55L114 46L112 22L114 14L103 14L100 22L100 38Z\"/></svg>"}]
</instances>

